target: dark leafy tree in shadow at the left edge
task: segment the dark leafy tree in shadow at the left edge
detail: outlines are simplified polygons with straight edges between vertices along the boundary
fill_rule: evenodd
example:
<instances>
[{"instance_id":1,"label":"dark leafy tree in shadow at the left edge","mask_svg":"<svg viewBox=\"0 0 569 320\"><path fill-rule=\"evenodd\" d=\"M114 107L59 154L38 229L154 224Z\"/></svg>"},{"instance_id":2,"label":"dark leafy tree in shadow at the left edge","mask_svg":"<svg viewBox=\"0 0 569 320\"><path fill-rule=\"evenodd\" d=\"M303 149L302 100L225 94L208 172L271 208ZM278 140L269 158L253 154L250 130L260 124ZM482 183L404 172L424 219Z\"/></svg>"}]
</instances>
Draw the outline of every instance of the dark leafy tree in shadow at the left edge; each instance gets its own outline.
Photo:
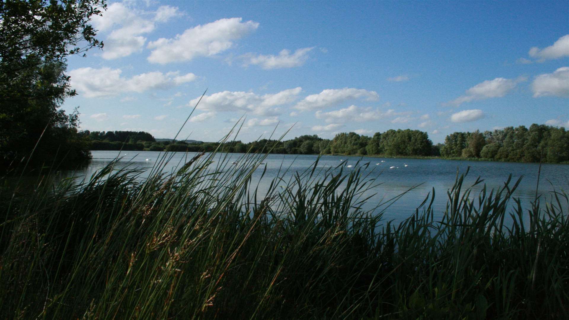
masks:
<instances>
[{"instance_id":1,"label":"dark leafy tree in shadow at the left edge","mask_svg":"<svg viewBox=\"0 0 569 320\"><path fill-rule=\"evenodd\" d=\"M0 168L30 154L40 137L36 152L47 163L55 154L88 156L73 135L78 113L58 109L76 95L65 75L67 57L103 45L89 21L105 7L104 0L0 2Z\"/></svg>"}]
</instances>

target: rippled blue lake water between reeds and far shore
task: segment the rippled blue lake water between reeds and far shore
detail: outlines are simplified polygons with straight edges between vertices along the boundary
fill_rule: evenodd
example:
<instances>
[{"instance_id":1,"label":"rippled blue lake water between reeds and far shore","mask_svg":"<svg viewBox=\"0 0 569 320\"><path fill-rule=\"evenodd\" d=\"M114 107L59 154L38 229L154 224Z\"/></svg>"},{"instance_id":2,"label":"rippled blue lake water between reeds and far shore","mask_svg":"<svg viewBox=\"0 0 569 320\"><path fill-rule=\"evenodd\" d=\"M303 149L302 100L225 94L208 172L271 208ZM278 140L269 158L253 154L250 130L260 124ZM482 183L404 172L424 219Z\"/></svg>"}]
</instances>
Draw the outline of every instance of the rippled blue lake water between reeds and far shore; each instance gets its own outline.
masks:
<instances>
[{"instance_id":1,"label":"rippled blue lake water between reeds and far shore","mask_svg":"<svg viewBox=\"0 0 569 320\"><path fill-rule=\"evenodd\" d=\"M76 177L90 177L90 175L107 165L110 161L113 161L113 159L119 155L118 151L92 151L92 154L93 159L88 166L73 171L73 173L71 173L71 171L63 172L63 177L69 177L71 175L75 175ZM176 167L180 166L180 163L183 165L186 159L191 159L195 154L196 153L173 153L171 160L164 165L164 171L175 171ZM156 151L123 151L121 154L122 159L117 165L119 167L126 165L142 167L150 171L158 160L159 155L160 153ZM243 154L216 155L220 161L221 159L219 157L225 156L229 158L228 161L230 163L242 157ZM259 190L261 192L266 191L271 180L275 178L279 172L282 173L282 168L288 168L290 166L287 173L287 176L290 177L291 174L296 171L302 172L312 167L316 158L316 155L268 155L267 158L263 160L263 162L266 163L267 171L261 181ZM345 172L349 172L355 169L358 161L360 161L360 166L369 163L370 165L362 172L369 174L369 178L376 178L376 183L382 183L380 186L367 192L368 194L366 195L375 194L368 200L367 206L369 208L377 206L382 200L391 199L409 190L409 188L417 186L386 209L384 213L385 219L393 219L395 221L401 221L413 214L415 208L422 203L432 188L435 188L436 194L434 202L435 219L436 215L442 215L446 210L448 199L447 190L453 186L457 170L459 173L465 173L467 167L470 167L470 171L465 179L465 187L471 186L478 177L484 179L484 183L486 183L487 188L490 189L503 186L509 174L512 174L512 183L510 185L513 185L519 177L523 176L522 182L519 184L514 196L521 200L523 208L530 208L530 202L535 198L535 187L537 185L539 169L538 163L375 157L360 158L336 155L324 155L320 158L318 167L325 169L343 165ZM376 163L379 164L376 165ZM348 167L350 165L352 167ZM390 169L390 167L393 166L395 168ZM232 166L229 166L228 169L230 170L231 167ZM264 166L259 166L259 169L255 171L252 177L253 180L258 180L261 177L263 167ZM541 194L542 197L545 196L545 198L541 200L542 205L545 200L549 202L551 191L554 190L554 188L558 191L562 189L569 190L568 181L569 165L542 164L538 189L538 194ZM475 190L479 191L482 186L483 184L479 184ZM477 192L473 192L473 195L477 197ZM564 209L566 210L567 208Z\"/></svg>"}]
</instances>

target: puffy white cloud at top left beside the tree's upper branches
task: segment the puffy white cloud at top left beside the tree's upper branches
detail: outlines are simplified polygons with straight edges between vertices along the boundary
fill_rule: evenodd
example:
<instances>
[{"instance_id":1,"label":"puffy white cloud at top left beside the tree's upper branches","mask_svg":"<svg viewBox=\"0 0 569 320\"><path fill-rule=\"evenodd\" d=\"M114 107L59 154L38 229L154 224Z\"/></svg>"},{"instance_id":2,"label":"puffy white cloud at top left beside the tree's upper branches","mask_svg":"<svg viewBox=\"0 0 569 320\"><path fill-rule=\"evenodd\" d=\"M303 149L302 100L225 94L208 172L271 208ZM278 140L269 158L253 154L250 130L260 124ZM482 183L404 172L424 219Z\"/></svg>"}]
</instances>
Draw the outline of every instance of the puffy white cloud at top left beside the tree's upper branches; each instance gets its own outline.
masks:
<instances>
[{"instance_id":1,"label":"puffy white cloud at top left beside the tree's upper branches","mask_svg":"<svg viewBox=\"0 0 569 320\"><path fill-rule=\"evenodd\" d=\"M155 13L127 6L125 2L115 2L107 7L105 14L93 17L93 26L99 32L110 31L104 39L105 47L102 52L104 59L117 59L141 51L146 43L145 36L154 31L157 22L167 22L179 15L178 8L160 6Z\"/></svg>"}]
</instances>

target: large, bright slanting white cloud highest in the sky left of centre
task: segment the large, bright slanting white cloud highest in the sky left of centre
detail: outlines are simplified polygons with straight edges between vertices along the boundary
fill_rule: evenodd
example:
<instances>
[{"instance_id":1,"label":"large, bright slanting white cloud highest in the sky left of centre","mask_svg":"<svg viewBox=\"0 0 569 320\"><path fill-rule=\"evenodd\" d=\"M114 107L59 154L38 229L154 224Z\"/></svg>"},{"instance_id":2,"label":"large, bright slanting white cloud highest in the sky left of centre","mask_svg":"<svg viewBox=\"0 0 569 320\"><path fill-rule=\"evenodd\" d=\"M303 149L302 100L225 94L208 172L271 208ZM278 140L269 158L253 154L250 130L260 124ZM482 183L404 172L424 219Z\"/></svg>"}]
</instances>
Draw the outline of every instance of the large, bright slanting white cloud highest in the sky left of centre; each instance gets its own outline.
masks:
<instances>
[{"instance_id":1,"label":"large, bright slanting white cloud highest in the sky left of centre","mask_svg":"<svg viewBox=\"0 0 569 320\"><path fill-rule=\"evenodd\" d=\"M213 56L233 46L233 40L254 31L258 22L241 22L241 18L219 19L190 29L175 38L160 38L148 44L151 63L166 64L189 61L199 56Z\"/></svg>"}]
</instances>

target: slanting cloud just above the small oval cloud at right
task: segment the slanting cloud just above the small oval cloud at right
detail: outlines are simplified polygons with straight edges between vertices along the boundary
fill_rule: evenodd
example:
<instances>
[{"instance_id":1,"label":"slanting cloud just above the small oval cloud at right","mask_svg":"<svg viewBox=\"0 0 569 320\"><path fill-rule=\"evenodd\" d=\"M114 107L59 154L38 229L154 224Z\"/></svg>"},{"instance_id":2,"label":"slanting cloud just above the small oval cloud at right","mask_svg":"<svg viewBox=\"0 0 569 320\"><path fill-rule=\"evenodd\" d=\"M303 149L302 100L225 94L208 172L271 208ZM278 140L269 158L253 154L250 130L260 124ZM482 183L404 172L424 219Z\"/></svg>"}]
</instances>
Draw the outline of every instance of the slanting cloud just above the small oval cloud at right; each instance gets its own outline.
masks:
<instances>
[{"instance_id":1,"label":"slanting cloud just above the small oval cloud at right","mask_svg":"<svg viewBox=\"0 0 569 320\"><path fill-rule=\"evenodd\" d=\"M517 79L496 78L494 80L486 80L468 89L465 92L465 95L448 102L448 104L459 106L464 102L470 102L473 100L504 97L516 88L516 85L519 82L525 80L527 80L525 77L518 77Z\"/></svg>"}]
</instances>

